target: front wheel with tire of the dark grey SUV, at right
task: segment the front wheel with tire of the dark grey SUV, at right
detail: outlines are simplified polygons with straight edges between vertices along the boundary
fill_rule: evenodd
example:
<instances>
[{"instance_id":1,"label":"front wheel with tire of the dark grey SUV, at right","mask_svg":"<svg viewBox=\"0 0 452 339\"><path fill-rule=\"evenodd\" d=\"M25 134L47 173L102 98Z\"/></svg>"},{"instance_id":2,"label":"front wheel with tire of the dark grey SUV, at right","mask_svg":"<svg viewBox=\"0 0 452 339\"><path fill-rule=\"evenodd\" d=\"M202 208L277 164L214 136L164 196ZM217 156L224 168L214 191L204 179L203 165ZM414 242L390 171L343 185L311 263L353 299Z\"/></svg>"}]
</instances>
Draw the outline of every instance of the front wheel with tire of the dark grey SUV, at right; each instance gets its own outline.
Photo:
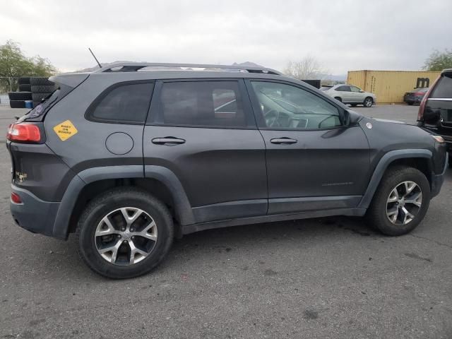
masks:
<instances>
[{"instance_id":1,"label":"front wheel with tire of the dark grey SUV, at right","mask_svg":"<svg viewBox=\"0 0 452 339\"><path fill-rule=\"evenodd\" d=\"M402 235L420 224L429 202L430 184L422 172L392 167L381 179L366 216L383 234Z\"/></svg>"}]
</instances>

